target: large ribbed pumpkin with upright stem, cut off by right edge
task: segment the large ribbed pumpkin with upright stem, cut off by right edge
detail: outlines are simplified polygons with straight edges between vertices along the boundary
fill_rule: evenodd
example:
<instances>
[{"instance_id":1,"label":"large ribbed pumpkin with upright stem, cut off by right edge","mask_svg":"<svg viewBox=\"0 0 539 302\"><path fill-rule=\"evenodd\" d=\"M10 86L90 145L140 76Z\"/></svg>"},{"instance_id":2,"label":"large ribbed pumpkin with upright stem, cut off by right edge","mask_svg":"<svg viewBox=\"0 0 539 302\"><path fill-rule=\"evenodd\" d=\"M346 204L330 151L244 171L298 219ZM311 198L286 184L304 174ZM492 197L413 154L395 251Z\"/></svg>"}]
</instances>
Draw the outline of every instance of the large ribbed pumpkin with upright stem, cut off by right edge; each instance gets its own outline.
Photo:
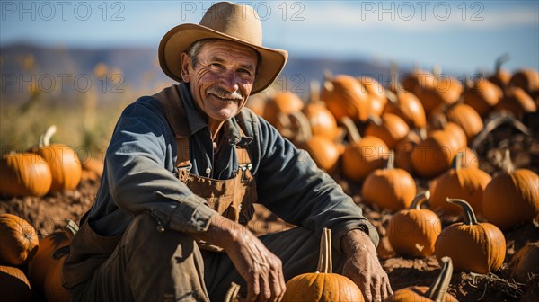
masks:
<instances>
[{"instance_id":1,"label":"large ribbed pumpkin with upright stem, cut off by right edge","mask_svg":"<svg viewBox=\"0 0 539 302\"><path fill-rule=\"evenodd\" d=\"M508 150L502 169L483 192L482 215L508 230L539 216L539 176L528 169L515 170Z\"/></svg>"}]
</instances>

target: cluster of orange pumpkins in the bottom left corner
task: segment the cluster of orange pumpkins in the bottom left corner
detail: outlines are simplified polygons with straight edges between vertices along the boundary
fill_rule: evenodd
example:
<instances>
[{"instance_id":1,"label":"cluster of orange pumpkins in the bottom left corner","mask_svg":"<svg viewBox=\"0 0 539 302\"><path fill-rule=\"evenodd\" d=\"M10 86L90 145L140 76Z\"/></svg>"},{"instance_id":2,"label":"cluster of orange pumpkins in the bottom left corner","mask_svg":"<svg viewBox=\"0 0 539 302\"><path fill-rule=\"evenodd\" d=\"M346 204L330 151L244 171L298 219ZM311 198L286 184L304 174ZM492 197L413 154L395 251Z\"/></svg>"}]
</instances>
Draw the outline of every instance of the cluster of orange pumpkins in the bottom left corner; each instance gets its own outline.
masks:
<instances>
[{"instance_id":1,"label":"cluster of orange pumpkins in the bottom left corner","mask_svg":"<svg viewBox=\"0 0 539 302\"><path fill-rule=\"evenodd\" d=\"M69 301L61 270L78 227L66 220L63 231L41 239L34 227L13 214L0 214L0 297L5 301Z\"/></svg>"}]
</instances>

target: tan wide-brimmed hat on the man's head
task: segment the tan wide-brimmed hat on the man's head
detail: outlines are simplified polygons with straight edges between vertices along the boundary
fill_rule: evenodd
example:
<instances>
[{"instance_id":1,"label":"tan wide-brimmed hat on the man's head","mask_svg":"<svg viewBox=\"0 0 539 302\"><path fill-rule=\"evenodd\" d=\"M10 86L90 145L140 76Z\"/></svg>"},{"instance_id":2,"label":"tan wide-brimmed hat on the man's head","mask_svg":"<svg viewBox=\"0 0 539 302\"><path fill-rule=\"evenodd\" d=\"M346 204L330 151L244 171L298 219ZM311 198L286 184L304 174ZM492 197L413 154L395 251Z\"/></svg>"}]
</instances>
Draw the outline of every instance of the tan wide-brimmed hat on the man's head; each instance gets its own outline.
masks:
<instances>
[{"instance_id":1,"label":"tan wide-brimmed hat on the man's head","mask_svg":"<svg viewBox=\"0 0 539 302\"><path fill-rule=\"evenodd\" d=\"M181 82L181 53L198 40L232 40L260 54L252 93L260 93L277 78L287 62L286 50L262 46L260 17L248 5L219 2L212 5L199 24L181 24L168 31L159 44L159 64L167 76Z\"/></svg>"}]
</instances>

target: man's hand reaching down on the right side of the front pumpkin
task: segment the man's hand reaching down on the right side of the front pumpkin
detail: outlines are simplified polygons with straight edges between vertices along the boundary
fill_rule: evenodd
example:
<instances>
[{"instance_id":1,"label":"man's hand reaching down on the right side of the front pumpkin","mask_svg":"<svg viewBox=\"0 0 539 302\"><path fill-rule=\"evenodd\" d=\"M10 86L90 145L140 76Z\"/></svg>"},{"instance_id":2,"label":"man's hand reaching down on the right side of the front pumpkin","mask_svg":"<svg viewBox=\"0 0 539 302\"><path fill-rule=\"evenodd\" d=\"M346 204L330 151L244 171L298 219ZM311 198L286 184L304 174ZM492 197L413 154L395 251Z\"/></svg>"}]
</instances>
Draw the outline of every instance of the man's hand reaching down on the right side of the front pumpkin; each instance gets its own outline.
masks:
<instances>
[{"instance_id":1,"label":"man's hand reaching down on the right side of the front pumpkin","mask_svg":"<svg viewBox=\"0 0 539 302\"><path fill-rule=\"evenodd\" d=\"M342 237L346 262L342 274L354 281L367 301L382 301L393 294L387 273L378 262L376 247L363 231L354 229Z\"/></svg>"}]
</instances>

